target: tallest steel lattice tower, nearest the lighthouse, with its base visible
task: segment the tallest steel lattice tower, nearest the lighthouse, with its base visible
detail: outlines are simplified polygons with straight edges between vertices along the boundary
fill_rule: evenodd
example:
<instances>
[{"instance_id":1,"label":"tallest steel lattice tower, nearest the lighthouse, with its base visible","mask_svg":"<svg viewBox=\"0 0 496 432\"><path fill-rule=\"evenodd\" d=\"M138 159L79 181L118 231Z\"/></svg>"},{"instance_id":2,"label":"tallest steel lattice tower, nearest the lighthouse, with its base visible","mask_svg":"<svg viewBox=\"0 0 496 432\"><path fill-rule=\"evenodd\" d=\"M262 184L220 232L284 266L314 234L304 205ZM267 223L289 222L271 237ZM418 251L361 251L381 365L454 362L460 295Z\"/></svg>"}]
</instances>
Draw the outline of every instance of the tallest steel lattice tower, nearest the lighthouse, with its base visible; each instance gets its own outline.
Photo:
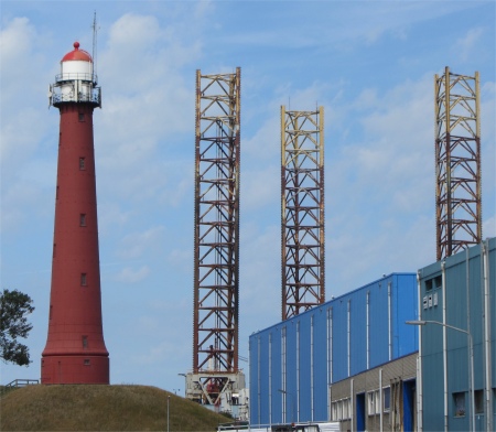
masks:
<instances>
[{"instance_id":1,"label":"tallest steel lattice tower, nearest the lighthouse, with its base visible","mask_svg":"<svg viewBox=\"0 0 496 432\"><path fill-rule=\"evenodd\" d=\"M239 126L240 68L197 71L193 374L186 396L207 404L218 404L239 375Z\"/></svg>"}]
</instances>

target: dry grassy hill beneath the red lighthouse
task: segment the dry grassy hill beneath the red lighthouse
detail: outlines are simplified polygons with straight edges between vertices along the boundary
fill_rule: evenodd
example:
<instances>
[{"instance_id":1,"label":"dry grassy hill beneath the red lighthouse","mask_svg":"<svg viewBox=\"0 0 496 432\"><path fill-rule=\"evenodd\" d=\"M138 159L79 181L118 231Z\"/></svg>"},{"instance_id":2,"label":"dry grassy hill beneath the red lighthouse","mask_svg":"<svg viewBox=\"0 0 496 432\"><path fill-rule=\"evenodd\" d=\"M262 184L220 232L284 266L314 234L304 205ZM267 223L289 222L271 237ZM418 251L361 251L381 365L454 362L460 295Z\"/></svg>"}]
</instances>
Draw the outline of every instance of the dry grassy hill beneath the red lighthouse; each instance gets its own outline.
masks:
<instances>
[{"instance_id":1,"label":"dry grassy hill beneath the red lighthouse","mask_svg":"<svg viewBox=\"0 0 496 432\"><path fill-rule=\"evenodd\" d=\"M28 386L0 399L1 431L215 431L229 422L147 386Z\"/></svg>"}]
</instances>

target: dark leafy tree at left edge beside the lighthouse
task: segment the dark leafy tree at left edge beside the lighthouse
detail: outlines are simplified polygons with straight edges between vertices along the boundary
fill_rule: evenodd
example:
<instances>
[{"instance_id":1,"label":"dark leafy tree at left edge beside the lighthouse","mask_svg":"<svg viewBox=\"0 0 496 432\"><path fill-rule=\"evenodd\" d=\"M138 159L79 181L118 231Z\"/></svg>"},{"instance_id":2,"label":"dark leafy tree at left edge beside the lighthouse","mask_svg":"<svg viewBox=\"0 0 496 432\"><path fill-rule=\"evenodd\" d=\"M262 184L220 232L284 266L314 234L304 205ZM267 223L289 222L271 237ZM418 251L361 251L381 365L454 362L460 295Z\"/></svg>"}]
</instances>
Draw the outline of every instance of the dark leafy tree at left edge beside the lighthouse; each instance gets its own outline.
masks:
<instances>
[{"instance_id":1,"label":"dark leafy tree at left edge beside the lighthouse","mask_svg":"<svg viewBox=\"0 0 496 432\"><path fill-rule=\"evenodd\" d=\"M30 353L18 337L28 337L33 326L26 315L34 311L33 301L18 290L3 290L0 298L0 357L19 366L30 364Z\"/></svg>"}]
</instances>

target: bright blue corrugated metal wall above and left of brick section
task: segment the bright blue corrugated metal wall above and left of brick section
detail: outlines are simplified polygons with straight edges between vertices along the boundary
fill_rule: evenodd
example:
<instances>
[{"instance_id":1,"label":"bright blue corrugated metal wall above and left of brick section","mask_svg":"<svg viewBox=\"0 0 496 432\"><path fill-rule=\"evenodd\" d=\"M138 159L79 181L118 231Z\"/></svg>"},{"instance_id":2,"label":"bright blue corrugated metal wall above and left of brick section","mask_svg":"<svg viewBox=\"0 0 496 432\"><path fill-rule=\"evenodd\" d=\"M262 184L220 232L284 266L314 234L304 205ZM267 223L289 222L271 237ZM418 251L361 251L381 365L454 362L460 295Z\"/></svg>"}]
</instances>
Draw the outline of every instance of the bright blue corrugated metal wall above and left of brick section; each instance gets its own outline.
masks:
<instances>
[{"instance_id":1,"label":"bright blue corrugated metal wall above and left of brick section","mask_svg":"<svg viewBox=\"0 0 496 432\"><path fill-rule=\"evenodd\" d=\"M328 420L330 384L417 352L416 317L416 274L393 273L251 335L251 424Z\"/></svg>"}]
</instances>

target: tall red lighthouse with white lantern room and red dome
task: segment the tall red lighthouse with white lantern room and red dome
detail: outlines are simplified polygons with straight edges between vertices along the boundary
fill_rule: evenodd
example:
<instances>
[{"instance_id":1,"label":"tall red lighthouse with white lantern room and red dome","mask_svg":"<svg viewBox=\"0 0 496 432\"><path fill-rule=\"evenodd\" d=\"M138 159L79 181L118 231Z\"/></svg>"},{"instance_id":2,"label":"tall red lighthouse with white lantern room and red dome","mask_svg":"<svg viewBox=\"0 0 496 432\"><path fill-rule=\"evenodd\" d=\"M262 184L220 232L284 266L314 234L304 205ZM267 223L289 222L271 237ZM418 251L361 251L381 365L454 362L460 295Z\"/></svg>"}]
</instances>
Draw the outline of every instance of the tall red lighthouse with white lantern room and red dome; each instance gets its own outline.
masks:
<instances>
[{"instance_id":1,"label":"tall red lighthouse with white lantern room and red dome","mask_svg":"<svg viewBox=\"0 0 496 432\"><path fill-rule=\"evenodd\" d=\"M101 107L91 56L79 50L61 62L50 87L58 108L57 185L48 337L42 384L109 384L101 323L93 110Z\"/></svg>"}]
</instances>

